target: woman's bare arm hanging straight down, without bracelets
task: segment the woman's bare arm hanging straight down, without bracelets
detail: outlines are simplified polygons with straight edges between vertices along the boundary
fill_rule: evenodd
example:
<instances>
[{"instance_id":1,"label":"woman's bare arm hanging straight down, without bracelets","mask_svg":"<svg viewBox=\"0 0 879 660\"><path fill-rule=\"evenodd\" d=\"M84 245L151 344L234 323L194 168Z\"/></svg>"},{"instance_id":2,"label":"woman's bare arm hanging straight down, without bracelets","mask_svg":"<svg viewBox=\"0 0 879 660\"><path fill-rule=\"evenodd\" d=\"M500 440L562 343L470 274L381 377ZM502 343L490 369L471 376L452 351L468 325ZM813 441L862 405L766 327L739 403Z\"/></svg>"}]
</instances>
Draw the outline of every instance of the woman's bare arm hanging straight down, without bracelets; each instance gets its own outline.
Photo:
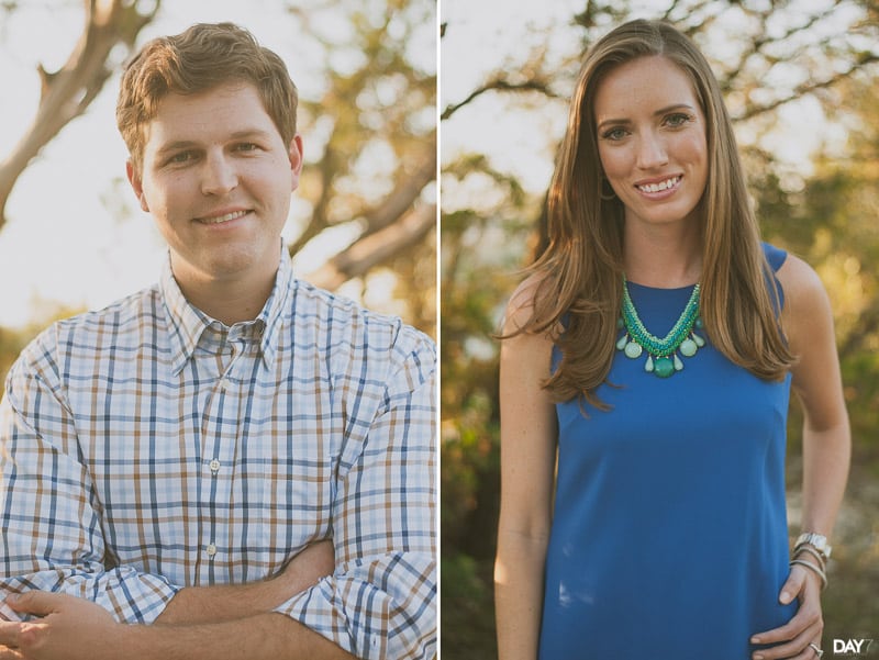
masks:
<instances>
[{"instance_id":1,"label":"woman's bare arm hanging straight down, without bracelets","mask_svg":"<svg viewBox=\"0 0 879 660\"><path fill-rule=\"evenodd\" d=\"M532 313L533 281L508 306L504 333ZM500 660L535 660L544 562L552 522L555 407L541 382L549 376L552 340L521 334L501 346L501 512L494 562Z\"/></svg>"}]
</instances>

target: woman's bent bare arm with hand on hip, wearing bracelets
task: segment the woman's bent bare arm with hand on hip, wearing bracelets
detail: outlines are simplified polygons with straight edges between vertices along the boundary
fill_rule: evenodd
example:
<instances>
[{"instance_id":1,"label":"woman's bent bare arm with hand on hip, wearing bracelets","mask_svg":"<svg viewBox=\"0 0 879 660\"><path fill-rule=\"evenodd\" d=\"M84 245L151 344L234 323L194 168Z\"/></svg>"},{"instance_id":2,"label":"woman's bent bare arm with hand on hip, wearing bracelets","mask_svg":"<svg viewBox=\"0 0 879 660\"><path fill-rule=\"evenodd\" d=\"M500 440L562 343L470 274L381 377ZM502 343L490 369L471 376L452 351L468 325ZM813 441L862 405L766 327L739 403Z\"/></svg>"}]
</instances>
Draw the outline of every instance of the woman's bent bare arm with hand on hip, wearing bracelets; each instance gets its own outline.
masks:
<instances>
[{"instance_id":1,"label":"woman's bent bare arm with hand on hip, wearing bracelets","mask_svg":"<svg viewBox=\"0 0 879 660\"><path fill-rule=\"evenodd\" d=\"M803 409L803 512L802 530L831 536L848 478L852 438L845 409L839 359L830 301L817 275L801 259L790 256L778 272L785 290L782 323L792 353L792 388ZM799 557L816 563L809 553ZM806 567L794 564L779 600L800 601L800 609L786 626L760 633L760 644L787 641L761 650L765 660L789 658L821 646L824 628L821 582ZM755 655L755 657L757 657Z\"/></svg>"}]
</instances>

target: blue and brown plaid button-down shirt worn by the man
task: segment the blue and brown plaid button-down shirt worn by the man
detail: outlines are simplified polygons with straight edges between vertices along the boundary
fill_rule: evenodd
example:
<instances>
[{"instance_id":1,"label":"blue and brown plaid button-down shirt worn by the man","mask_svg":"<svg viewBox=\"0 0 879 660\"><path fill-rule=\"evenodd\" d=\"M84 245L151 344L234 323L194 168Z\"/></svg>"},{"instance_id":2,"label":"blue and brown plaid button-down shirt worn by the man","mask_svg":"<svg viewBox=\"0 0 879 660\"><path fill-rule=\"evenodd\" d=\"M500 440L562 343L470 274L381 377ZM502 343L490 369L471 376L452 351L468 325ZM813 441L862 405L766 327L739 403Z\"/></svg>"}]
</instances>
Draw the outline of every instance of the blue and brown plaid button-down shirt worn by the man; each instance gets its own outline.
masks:
<instances>
[{"instance_id":1,"label":"blue and brown plaid button-down shirt worn by the man","mask_svg":"<svg viewBox=\"0 0 879 660\"><path fill-rule=\"evenodd\" d=\"M277 611L363 658L436 644L435 348L292 276L226 327L160 283L59 322L0 404L0 599L59 591L149 624L185 586L267 578L332 536Z\"/></svg>"}]
</instances>

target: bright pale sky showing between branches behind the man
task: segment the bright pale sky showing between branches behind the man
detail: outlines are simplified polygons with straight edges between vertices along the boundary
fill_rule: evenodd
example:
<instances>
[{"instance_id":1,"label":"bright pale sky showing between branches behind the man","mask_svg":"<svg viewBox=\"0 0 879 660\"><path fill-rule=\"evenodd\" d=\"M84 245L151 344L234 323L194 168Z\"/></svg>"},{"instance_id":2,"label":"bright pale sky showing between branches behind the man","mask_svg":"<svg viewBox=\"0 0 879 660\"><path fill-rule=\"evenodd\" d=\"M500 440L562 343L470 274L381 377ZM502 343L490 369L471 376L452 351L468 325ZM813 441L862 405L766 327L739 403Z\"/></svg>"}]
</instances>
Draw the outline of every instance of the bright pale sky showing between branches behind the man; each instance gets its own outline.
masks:
<instances>
[{"instance_id":1,"label":"bright pale sky showing between branches behind the man","mask_svg":"<svg viewBox=\"0 0 879 660\"><path fill-rule=\"evenodd\" d=\"M292 4L308 9L308 3ZM342 10L313 4L309 20L315 32L351 31ZM81 2L24 0L16 5L11 13L0 11L0 79L5 90L0 96L0 158L33 116L40 94L37 65L47 70L60 66L82 22ZM165 0L138 43L181 32L194 22L232 21L281 55L301 98L320 99L326 87L324 61L314 51L313 33L311 40L297 38L287 7L277 0ZM431 36L433 26L425 31ZM435 68L435 41L420 43L423 52L413 48L410 57ZM332 65L344 71L354 63L341 53ZM7 206L8 223L0 231L0 326L41 323L62 307L100 307L157 277L165 248L124 178L127 154L114 118L118 89L119 67L86 114L68 124L16 183ZM304 136L307 161L325 139L315 133ZM376 153L375 158L382 155ZM286 238L297 235L309 213L309 204L294 195ZM352 228L321 235L298 255L297 271L315 270L327 253L351 242ZM374 277L367 292L370 300L365 302L381 306L392 287L392 277ZM343 293L358 298L361 292Z\"/></svg>"}]
</instances>

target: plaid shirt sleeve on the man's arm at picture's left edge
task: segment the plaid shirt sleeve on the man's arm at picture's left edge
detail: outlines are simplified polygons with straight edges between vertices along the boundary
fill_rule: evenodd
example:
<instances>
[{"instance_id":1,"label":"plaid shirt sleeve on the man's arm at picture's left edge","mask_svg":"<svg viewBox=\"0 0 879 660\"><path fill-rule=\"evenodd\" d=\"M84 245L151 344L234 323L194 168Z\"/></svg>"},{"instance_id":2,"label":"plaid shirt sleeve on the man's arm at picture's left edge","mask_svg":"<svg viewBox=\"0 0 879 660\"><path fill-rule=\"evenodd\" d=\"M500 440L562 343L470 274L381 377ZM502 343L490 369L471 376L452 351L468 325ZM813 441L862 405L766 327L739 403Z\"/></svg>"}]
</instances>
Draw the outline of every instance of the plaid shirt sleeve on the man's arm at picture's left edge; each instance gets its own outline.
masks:
<instances>
[{"instance_id":1,"label":"plaid shirt sleeve on the man's arm at picture's left edge","mask_svg":"<svg viewBox=\"0 0 879 660\"><path fill-rule=\"evenodd\" d=\"M22 354L0 402L0 600L60 592L98 603L118 622L152 623L178 588L108 562L101 503L77 458L51 336Z\"/></svg>"}]
</instances>

